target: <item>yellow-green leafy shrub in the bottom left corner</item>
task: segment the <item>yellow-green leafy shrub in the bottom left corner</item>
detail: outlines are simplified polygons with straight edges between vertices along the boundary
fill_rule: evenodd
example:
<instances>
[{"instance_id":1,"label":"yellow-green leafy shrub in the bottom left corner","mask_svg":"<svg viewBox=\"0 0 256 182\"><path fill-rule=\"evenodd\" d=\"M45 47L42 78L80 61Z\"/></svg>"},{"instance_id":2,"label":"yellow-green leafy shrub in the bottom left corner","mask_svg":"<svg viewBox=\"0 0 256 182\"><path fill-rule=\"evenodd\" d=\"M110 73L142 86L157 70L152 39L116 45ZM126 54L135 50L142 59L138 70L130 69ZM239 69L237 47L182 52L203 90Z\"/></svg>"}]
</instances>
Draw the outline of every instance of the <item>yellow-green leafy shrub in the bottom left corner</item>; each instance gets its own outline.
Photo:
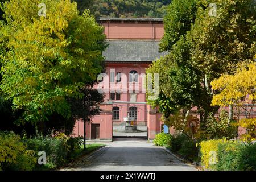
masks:
<instances>
[{"instance_id":1,"label":"yellow-green leafy shrub in the bottom left corner","mask_svg":"<svg viewBox=\"0 0 256 182\"><path fill-rule=\"evenodd\" d=\"M34 151L26 150L19 135L0 133L0 169L32 170L35 163Z\"/></svg>"}]
</instances>

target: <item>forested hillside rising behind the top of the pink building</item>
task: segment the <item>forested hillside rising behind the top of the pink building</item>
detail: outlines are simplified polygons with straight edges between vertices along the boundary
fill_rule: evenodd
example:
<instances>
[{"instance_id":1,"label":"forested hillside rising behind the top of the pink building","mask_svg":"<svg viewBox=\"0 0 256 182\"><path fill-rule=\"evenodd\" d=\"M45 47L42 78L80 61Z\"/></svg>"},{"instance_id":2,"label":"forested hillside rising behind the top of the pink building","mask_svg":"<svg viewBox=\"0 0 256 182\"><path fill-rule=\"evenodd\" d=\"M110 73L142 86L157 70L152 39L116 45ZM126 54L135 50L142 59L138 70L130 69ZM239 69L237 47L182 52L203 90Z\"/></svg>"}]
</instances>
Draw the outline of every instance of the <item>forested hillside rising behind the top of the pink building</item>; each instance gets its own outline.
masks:
<instances>
[{"instance_id":1,"label":"forested hillside rising behind the top of the pink building","mask_svg":"<svg viewBox=\"0 0 256 182\"><path fill-rule=\"evenodd\" d=\"M74 0L83 12L90 9L98 17L163 17L171 0Z\"/></svg>"}]
</instances>

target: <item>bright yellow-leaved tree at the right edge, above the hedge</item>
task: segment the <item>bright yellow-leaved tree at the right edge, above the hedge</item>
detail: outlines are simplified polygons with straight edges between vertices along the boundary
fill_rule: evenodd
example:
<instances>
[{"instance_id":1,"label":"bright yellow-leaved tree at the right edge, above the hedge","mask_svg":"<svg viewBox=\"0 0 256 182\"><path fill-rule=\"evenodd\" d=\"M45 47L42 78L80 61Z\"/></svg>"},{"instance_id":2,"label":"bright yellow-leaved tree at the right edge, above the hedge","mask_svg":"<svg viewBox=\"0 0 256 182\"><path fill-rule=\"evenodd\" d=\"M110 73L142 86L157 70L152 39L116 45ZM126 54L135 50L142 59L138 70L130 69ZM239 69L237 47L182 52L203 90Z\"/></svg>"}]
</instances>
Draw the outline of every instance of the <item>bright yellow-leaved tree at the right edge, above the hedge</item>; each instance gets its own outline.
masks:
<instances>
[{"instance_id":1,"label":"bright yellow-leaved tree at the right edge, above the hedge","mask_svg":"<svg viewBox=\"0 0 256 182\"><path fill-rule=\"evenodd\" d=\"M239 123L248 131L243 138L253 139L256 136L256 120L252 118L251 112L256 101L256 63L250 63L237 69L234 75L222 75L211 82L212 89L218 90L213 96L212 105L228 106L235 105L246 111L247 118Z\"/></svg>"}]
</instances>

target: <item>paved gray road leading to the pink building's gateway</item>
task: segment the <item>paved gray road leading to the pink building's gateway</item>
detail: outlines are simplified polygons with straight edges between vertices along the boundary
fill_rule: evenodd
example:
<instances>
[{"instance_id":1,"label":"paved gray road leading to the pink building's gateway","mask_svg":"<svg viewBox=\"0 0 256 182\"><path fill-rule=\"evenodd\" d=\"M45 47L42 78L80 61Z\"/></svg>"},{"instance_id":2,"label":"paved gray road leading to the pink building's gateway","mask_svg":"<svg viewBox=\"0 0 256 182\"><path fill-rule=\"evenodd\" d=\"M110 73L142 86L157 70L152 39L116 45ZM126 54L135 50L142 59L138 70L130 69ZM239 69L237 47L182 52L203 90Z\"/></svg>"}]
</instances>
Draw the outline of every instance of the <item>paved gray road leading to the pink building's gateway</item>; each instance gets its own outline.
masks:
<instances>
[{"instance_id":1,"label":"paved gray road leading to the pink building's gateway","mask_svg":"<svg viewBox=\"0 0 256 182\"><path fill-rule=\"evenodd\" d=\"M177 160L166 150L145 140L117 140L106 143L85 159L64 170L110 171L193 171L195 168Z\"/></svg>"}]
</instances>

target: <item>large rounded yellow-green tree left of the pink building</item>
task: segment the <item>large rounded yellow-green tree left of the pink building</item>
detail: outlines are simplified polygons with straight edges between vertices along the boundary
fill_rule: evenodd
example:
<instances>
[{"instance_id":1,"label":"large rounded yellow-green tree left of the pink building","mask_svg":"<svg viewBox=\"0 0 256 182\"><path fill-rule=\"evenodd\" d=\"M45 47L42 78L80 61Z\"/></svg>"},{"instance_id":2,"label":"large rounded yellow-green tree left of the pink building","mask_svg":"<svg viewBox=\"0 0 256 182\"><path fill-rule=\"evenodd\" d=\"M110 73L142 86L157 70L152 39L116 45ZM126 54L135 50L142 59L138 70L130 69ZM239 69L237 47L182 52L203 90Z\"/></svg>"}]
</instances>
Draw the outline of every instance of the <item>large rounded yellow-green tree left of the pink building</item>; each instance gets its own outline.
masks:
<instances>
[{"instance_id":1,"label":"large rounded yellow-green tree left of the pink building","mask_svg":"<svg viewBox=\"0 0 256 182\"><path fill-rule=\"evenodd\" d=\"M38 15L42 2L45 17ZM67 97L81 98L80 89L102 71L103 28L69 0L10 0L3 11L2 92L13 109L24 109L24 121L44 121L52 113L70 117Z\"/></svg>"}]
</instances>

